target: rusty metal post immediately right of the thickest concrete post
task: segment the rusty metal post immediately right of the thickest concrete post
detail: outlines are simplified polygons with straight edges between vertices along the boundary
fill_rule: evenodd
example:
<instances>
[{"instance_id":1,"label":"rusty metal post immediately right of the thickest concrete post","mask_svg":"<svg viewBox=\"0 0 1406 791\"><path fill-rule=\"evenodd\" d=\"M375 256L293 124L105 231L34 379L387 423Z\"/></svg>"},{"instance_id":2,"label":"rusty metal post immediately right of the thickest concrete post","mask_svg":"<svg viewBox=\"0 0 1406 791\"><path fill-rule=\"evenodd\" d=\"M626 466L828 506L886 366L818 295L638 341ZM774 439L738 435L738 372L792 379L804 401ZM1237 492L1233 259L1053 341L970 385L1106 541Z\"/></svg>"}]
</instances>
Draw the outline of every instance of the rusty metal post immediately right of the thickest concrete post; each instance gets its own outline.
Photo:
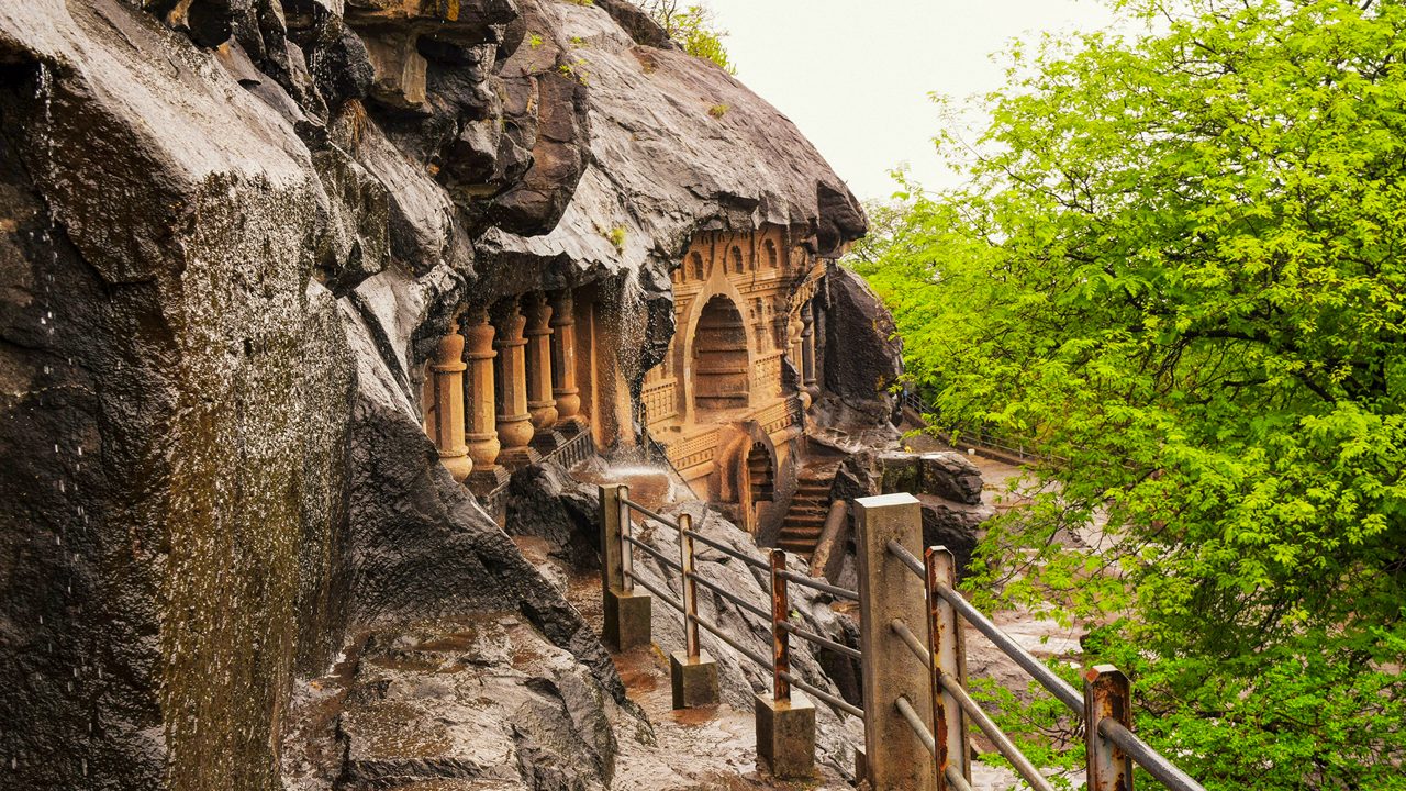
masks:
<instances>
[{"instance_id":1,"label":"rusty metal post immediately right of the thickest concrete post","mask_svg":"<svg viewBox=\"0 0 1406 791\"><path fill-rule=\"evenodd\" d=\"M941 678L946 676L957 685L966 687L966 646L962 639L962 621L956 609L938 595L938 586L956 588L956 560L945 546L929 546L924 553L928 573L928 650L932 652L932 722L934 739L938 743L938 791L946 791L946 768L955 766L972 781L972 753L966 740L966 719L956 698L942 691Z\"/></svg>"}]
</instances>

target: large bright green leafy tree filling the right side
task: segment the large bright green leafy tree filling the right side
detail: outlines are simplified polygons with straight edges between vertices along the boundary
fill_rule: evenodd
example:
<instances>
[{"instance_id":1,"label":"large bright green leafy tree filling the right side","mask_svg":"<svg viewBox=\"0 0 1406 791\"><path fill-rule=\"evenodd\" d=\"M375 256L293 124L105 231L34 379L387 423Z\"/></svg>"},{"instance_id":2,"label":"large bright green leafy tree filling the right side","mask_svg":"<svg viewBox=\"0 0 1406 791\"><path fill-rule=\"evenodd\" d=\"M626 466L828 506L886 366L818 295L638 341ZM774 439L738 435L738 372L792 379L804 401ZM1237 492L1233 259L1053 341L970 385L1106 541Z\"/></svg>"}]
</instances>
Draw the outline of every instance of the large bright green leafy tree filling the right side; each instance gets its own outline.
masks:
<instances>
[{"instance_id":1,"label":"large bright green leafy tree filling the right side","mask_svg":"<svg viewBox=\"0 0 1406 791\"><path fill-rule=\"evenodd\" d=\"M1116 7L852 259L942 421L1052 459L969 584L1098 624L1208 788L1406 788L1406 6Z\"/></svg>"}]
</instances>

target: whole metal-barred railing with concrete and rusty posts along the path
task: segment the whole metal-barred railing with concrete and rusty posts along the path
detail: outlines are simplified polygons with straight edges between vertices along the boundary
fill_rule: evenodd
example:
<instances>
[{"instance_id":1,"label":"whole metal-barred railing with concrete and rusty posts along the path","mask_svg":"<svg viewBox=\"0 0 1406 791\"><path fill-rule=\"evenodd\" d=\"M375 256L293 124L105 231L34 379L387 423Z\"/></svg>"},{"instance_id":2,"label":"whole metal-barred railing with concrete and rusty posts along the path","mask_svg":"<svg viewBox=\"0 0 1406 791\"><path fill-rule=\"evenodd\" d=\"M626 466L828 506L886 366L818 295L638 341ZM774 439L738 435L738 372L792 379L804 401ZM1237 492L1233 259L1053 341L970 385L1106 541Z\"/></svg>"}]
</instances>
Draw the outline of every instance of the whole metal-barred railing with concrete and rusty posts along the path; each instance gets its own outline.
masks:
<instances>
[{"instance_id":1,"label":"whole metal-barred railing with concrete and rusty posts along the path","mask_svg":"<svg viewBox=\"0 0 1406 791\"><path fill-rule=\"evenodd\" d=\"M1083 692L1077 691L957 593L956 562L950 552L929 546L920 560L908 549L921 545L922 536L920 504L914 497L896 494L855 501L859 590L848 590L789 570L787 555L780 549L769 550L768 559L759 560L702 535L693 528L690 515L665 517L630 500L628 494L628 487L623 484L606 486L602 487L600 498L606 624L616 647L626 649L651 640L647 598L645 607L637 607L645 612L643 633L630 632L638 629L638 625L624 625L630 616L626 612L628 607L621 602L641 598L634 593L638 586L683 616L685 649L679 660L671 664L672 673L682 673L685 666L710 663L699 645L703 629L770 673L770 701L776 711L792 709L794 687L830 704L837 712L859 718L865 725L866 745L862 771L876 791L970 790L969 723L986 735L1032 790L1053 791L1052 783L967 692L963 622L970 624L1076 716L1083 718L1090 791L1130 791L1135 763L1167 788L1204 791L1195 780L1133 735L1130 685L1118 669L1102 664L1090 669L1084 676ZM641 525L654 524L673 531L678 536L678 557L637 538L636 517ZM763 571L769 580L770 612L702 576L695 566L695 543L703 543L728 559ZM662 574L676 576L681 595L675 597L637 574L636 552L655 560ZM794 624L790 618L793 584L858 602L860 649ZM769 625L769 660L699 614L699 586L737 607L738 612ZM799 678L792 670L792 638L859 662L865 708ZM700 701L681 701L678 690L686 688L688 683L673 678L675 708L717 702L716 673L711 683L711 695L704 695ZM806 749L813 760L814 719L810 726L810 743ZM762 730L759 707L758 750L770 760L779 747L775 743L763 746ZM772 739L776 738L776 729L770 725L766 730ZM927 760L920 760L922 754L927 754Z\"/></svg>"}]
</instances>

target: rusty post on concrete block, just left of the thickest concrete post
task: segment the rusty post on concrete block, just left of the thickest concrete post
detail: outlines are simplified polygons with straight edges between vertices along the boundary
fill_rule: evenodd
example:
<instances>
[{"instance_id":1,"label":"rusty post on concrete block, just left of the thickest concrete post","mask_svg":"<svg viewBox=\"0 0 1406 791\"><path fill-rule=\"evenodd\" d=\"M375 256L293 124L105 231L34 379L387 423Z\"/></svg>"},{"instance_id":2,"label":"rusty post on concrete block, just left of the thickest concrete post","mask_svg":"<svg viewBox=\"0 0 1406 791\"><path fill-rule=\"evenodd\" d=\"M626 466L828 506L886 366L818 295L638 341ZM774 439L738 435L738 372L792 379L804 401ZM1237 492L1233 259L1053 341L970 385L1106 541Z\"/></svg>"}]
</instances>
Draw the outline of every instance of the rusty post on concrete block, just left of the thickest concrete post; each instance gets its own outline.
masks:
<instances>
[{"instance_id":1,"label":"rusty post on concrete block, just left of the thickest concrete post","mask_svg":"<svg viewBox=\"0 0 1406 791\"><path fill-rule=\"evenodd\" d=\"M786 552L773 549L772 567L772 694L756 695L756 752L780 778L808 777L815 770L815 707L792 692L790 618L786 588Z\"/></svg>"}]
</instances>

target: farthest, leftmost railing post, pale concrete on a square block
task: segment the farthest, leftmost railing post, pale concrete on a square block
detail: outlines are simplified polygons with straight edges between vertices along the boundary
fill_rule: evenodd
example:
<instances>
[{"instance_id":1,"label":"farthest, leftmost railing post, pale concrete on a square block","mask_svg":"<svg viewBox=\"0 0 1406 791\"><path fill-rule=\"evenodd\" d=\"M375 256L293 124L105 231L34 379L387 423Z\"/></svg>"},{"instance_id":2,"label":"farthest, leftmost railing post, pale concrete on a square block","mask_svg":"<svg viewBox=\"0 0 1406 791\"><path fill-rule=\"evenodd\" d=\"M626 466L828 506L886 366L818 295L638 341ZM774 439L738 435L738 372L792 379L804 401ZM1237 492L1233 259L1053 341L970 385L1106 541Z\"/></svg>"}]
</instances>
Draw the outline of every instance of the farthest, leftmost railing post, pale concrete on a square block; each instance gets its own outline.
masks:
<instances>
[{"instance_id":1,"label":"farthest, leftmost railing post, pale concrete on a square block","mask_svg":"<svg viewBox=\"0 0 1406 791\"><path fill-rule=\"evenodd\" d=\"M605 604L603 638L616 650L647 646L650 597L634 593L634 563L624 536L630 532L630 487L600 487L600 583Z\"/></svg>"}]
</instances>

